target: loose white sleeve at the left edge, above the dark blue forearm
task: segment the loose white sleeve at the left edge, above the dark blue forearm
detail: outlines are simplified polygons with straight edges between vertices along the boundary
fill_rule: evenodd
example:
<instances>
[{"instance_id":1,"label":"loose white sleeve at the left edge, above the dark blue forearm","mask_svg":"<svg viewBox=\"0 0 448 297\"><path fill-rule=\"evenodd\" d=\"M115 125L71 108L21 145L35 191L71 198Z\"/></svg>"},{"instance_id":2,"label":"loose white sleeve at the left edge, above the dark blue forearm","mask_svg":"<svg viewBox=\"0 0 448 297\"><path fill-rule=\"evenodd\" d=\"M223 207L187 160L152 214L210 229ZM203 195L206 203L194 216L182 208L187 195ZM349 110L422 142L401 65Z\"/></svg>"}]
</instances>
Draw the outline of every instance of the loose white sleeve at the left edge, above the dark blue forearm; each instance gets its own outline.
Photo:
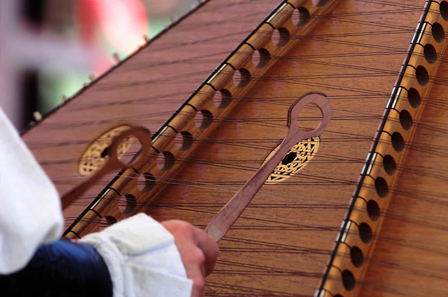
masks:
<instances>
[{"instance_id":1,"label":"loose white sleeve at the left edge, above the dark blue forearm","mask_svg":"<svg viewBox=\"0 0 448 297\"><path fill-rule=\"evenodd\" d=\"M0 108L0 274L31 259L62 231L60 198Z\"/></svg>"}]
</instances>

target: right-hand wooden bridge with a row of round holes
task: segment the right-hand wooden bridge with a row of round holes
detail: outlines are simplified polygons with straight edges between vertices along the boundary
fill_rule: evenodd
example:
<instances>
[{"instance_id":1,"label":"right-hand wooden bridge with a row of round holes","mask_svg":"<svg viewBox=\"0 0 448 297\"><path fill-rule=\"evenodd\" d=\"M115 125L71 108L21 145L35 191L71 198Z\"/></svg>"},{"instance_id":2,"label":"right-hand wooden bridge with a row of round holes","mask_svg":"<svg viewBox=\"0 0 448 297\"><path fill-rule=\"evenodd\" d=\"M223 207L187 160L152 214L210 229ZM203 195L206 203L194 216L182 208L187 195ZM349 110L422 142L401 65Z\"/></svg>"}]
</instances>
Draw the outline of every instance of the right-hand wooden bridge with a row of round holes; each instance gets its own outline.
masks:
<instances>
[{"instance_id":1,"label":"right-hand wooden bridge with a row of round holes","mask_svg":"<svg viewBox=\"0 0 448 297\"><path fill-rule=\"evenodd\" d=\"M372 209L379 207L381 212L387 212L389 203L397 191L397 182L400 179L400 171L390 170L389 167L394 166L393 164L404 163L408 153L407 148L401 148L398 144L393 145L391 137L395 135L402 138L404 143L411 143L418 127L414 122L421 121L425 104L412 106L408 90L413 89L418 92L420 97L427 98L434 82L429 77L436 77L441 63L441 60L435 59L435 61L432 61L429 59L426 51L425 53L423 51L424 46L433 46L438 53L446 51L448 40L444 39L441 42L437 42L431 33L431 24L444 22L438 10L439 4L435 2L429 4L427 2L427 7L428 13L423 13L419 20L419 23L422 24L422 29L416 30L414 33L413 40L415 39L415 46L413 43L409 46L409 62L405 60L401 68L400 72L404 73L403 78L397 79L394 89L396 92L392 92L383 113L383 126L380 124L377 130L376 135L380 139L380 143L378 145L374 143L370 148L372 157L370 160L368 159L366 167L364 167L362 172L366 176L364 179L360 177L361 187L359 190L355 190L353 194L355 208L349 217L346 218L347 223L341 226L342 230L339 236L344 239L336 247L336 255L332 265L337 269L333 269L331 272L331 274L339 275L339 277L329 278L323 284L323 288L332 292L333 295L358 296L361 286L354 284L354 282L362 283L367 270L366 263L368 263L373 254L377 237L375 236L368 242L362 240L357 226L360 226L362 223L368 224L373 234L381 234L381 226L385 216L378 216L376 213L372 213ZM428 79L416 79L419 68L427 71ZM365 209L367 209L367 212ZM346 255L354 251L362 251L360 255L365 258L362 261L362 265L354 264L353 261L347 261ZM354 277L353 286L347 286L340 281L344 277L344 273L348 275L349 272ZM345 278L349 277L350 275L345 276Z\"/></svg>"}]
</instances>

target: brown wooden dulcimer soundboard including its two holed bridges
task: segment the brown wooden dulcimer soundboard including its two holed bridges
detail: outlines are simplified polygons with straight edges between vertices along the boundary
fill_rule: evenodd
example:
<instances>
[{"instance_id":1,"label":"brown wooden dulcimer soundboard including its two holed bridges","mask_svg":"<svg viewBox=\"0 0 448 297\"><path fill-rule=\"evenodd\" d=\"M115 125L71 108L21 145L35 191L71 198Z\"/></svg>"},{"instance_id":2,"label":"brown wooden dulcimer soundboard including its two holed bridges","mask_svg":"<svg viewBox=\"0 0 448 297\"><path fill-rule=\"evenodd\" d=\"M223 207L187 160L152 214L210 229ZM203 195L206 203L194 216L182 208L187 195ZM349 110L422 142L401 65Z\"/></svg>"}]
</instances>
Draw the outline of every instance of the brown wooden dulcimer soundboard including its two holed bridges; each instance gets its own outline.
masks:
<instances>
[{"instance_id":1,"label":"brown wooden dulcimer soundboard including its two holed bridges","mask_svg":"<svg viewBox=\"0 0 448 297\"><path fill-rule=\"evenodd\" d=\"M133 121L157 131L172 121L155 136L148 163L123 172L102 199L90 205L72 235L101 230L140 211L158 220L181 218L205 227L284 138L284 115L291 102L303 93L320 91L332 103L333 118L318 153L287 182L263 185L220 241L220 259L207 279L206 296L312 296L322 282L335 237L343 236L347 244L338 246L335 266L324 280L326 291L319 297L446 295L447 63L440 27L446 32L448 21L440 11L448 3L431 3L424 33L418 34L410 66L404 69L403 88L387 114L384 108L425 2L290 1L278 7L284 13L277 13L241 45L277 4L204 4L24 135L53 179L67 177L57 184L65 193L80 180L73 160L101 130L116 121ZM282 43L284 31L275 29L295 25L294 13L306 18L304 10L297 9L302 7L313 12L310 27L296 22L303 31ZM319 14L318 9L332 13ZM425 50L426 44L433 46L437 59L431 49ZM288 50L271 54L262 75L252 75L259 71L252 59L258 49L273 53L283 46ZM221 69L223 60L227 62ZM418 66L428 71L427 84L422 83L424 75L416 76L422 73L416 73ZM250 79L245 71L238 75L241 68L249 71ZM220 75L201 84L219 69ZM189 105L175 112L198 85ZM409 93L411 88L420 98ZM220 104L228 103L225 96L215 96L221 89L238 95L230 100L235 106L228 113L216 116L216 110L224 109ZM202 110L211 112L211 123L196 120ZM300 116L306 121L301 124L312 129L318 111L304 111ZM377 131L383 115L386 124ZM393 132L403 136L402 150L396 149L397 138L392 142L391 135L397 135ZM375 134L380 137L377 154L372 151L373 161L366 164ZM185 152L187 157L178 157ZM172 167L157 165L163 153L165 160L174 159ZM182 166L175 167L178 163ZM365 165L369 176L360 194L352 197ZM388 191L382 180L376 185L379 177ZM97 184L90 194L105 184ZM91 201L88 197L65 215L78 215L86 205L81 201ZM355 203L353 224L343 223L347 232L340 233L350 201ZM359 232L362 222L372 230L370 241L364 238L368 244L360 237L367 233ZM356 278L353 286L341 275L345 269Z\"/></svg>"}]
</instances>

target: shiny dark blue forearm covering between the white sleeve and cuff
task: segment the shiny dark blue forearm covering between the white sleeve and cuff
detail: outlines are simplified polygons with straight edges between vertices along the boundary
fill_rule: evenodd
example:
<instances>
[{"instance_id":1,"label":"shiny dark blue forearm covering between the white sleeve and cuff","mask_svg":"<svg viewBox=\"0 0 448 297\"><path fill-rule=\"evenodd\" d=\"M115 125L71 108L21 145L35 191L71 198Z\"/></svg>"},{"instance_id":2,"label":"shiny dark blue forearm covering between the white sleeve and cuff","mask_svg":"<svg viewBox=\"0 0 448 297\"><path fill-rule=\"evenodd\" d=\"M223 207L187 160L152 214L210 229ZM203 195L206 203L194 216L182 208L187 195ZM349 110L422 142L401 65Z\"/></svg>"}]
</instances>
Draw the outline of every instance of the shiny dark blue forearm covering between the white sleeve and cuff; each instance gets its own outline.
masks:
<instances>
[{"instance_id":1,"label":"shiny dark blue forearm covering between the white sleeve and cuff","mask_svg":"<svg viewBox=\"0 0 448 297\"><path fill-rule=\"evenodd\" d=\"M103 258L87 243L61 239L39 246L22 270L0 275L3 296L112 297Z\"/></svg>"}]
</instances>

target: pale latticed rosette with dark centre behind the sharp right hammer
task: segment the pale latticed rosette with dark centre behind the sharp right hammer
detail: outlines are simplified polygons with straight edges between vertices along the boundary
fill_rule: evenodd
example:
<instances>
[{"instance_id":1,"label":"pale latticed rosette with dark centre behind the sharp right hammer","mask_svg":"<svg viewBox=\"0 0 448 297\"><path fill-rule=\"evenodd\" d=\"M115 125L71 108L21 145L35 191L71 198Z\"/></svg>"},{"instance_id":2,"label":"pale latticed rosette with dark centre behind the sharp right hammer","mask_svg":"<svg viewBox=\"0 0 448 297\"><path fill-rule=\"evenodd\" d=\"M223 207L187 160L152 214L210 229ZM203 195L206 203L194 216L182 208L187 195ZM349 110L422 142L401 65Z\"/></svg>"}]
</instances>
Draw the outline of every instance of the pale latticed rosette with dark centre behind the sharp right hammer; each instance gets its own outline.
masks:
<instances>
[{"instance_id":1,"label":"pale latticed rosette with dark centre behind the sharp right hammer","mask_svg":"<svg viewBox=\"0 0 448 297\"><path fill-rule=\"evenodd\" d=\"M319 149L320 138L308 138L307 140L297 143L291 148L288 154L285 155L283 160L277 165L274 172L264 182L265 184L276 184L289 177L295 175L302 170L308 162L313 159ZM263 164L271 158L271 156L277 151L278 146L271 151L271 153L264 160Z\"/></svg>"}]
</instances>

